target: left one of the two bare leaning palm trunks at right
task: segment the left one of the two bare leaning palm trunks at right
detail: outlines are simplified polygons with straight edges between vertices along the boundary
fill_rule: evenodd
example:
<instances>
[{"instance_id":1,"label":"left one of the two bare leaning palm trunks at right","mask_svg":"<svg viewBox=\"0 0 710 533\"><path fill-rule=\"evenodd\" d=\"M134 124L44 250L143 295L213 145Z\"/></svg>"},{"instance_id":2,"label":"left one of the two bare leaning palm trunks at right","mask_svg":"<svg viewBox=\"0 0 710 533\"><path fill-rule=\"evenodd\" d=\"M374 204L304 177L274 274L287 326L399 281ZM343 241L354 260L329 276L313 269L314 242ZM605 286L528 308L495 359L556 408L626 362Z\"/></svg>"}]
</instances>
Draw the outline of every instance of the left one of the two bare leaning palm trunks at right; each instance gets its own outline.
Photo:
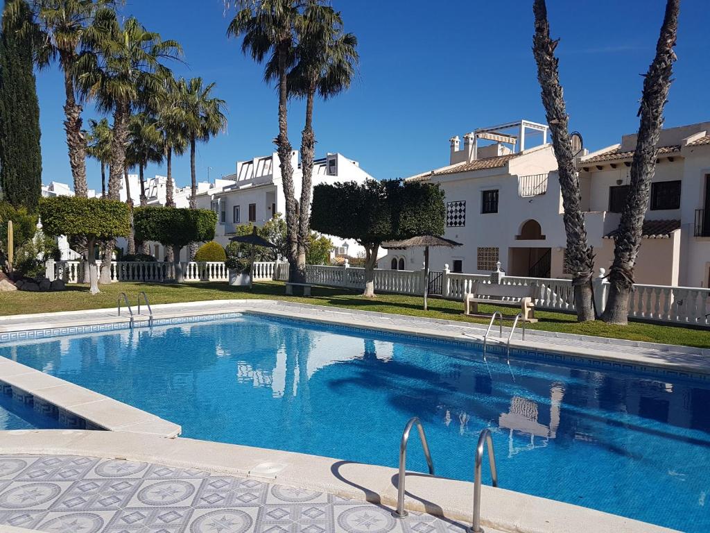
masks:
<instances>
[{"instance_id":1,"label":"left one of the two bare leaning palm trunks at right","mask_svg":"<svg viewBox=\"0 0 710 533\"><path fill-rule=\"evenodd\" d=\"M586 238L584 213L581 210L581 193L577 168L574 165L572 144L569 141L567 110L562 87L559 85L559 61L555 58L557 41L550 38L550 23L547 21L545 0L535 0L535 36L532 38L532 53L537 63L537 80L542 88L542 103L545 105L547 123L552 134L552 148L557 158L557 175L562 190L564 231L567 234L567 259L572 267L574 305L577 321L593 321L591 279L594 273L594 251Z\"/></svg>"}]
</instances>

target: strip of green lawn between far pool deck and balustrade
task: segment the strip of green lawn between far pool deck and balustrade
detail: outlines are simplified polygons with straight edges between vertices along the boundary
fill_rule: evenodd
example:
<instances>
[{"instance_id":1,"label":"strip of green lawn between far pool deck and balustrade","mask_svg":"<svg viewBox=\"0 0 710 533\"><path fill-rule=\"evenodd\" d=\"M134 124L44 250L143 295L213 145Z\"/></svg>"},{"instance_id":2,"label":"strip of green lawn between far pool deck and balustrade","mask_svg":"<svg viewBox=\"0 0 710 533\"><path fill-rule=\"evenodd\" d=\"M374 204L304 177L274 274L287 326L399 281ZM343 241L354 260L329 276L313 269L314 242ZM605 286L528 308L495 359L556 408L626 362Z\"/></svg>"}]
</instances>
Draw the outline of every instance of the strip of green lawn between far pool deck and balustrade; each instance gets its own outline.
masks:
<instances>
[{"instance_id":1,"label":"strip of green lawn between far pool deck and balustrade","mask_svg":"<svg viewBox=\"0 0 710 533\"><path fill-rule=\"evenodd\" d=\"M229 298L260 298L272 300L314 303L321 306L338 306L350 309L366 309L381 313L398 313L409 316L427 316L445 318L462 322L488 323L488 318L470 318L462 314L463 304L439 298L430 299L430 310L422 311L422 298L398 294L381 294L377 298L363 298L344 289L313 287L313 296L286 296L283 283L276 281L254 284L253 289L231 287L226 283L200 284L140 284L118 283L102 285L101 294L91 296L85 285L67 286L67 291L55 293L31 293L16 291L0 294L0 315L26 313L50 313L54 311L77 311L80 309L114 308L121 292L129 294L131 303L136 302L139 291L146 291L152 305L180 301L223 300ZM493 306L481 306L482 313L492 313ZM504 309L506 314L514 315L514 308ZM648 323L630 323L627 326L607 325L603 322L577 323L574 315L537 311L539 322L530 328L598 335L600 337L645 340L655 343L679 344L710 348L710 332L696 328L682 328L672 325ZM510 321L508 321L510 324Z\"/></svg>"}]
</instances>

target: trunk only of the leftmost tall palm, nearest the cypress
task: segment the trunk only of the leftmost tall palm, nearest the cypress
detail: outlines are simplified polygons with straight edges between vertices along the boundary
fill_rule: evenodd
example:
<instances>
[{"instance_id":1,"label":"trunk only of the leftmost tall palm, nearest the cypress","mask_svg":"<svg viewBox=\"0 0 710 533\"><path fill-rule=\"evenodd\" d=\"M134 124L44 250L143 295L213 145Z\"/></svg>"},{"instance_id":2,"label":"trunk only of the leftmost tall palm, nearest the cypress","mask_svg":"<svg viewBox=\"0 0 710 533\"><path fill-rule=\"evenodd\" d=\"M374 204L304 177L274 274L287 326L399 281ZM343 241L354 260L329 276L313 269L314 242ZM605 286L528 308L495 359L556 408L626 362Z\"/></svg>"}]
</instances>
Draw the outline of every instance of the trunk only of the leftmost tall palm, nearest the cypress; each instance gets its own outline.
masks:
<instances>
[{"instance_id":1,"label":"trunk only of the leftmost tall palm, nearest the cypress","mask_svg":"<svg viewBox=\"0 0 710 533\"><path fill-rule=\"evenodd\" d=\"M62 64L69 65L72 62L69 53L60 52ZM80 198L87 198L87 143L82 131L82 106L77 104L74 92L74 79L67 68L64 72L64 129L67 133L67 147L69 149L69 163L72 168L72 178L74 178L74 194Z\"/></svg>"}]
</instances>

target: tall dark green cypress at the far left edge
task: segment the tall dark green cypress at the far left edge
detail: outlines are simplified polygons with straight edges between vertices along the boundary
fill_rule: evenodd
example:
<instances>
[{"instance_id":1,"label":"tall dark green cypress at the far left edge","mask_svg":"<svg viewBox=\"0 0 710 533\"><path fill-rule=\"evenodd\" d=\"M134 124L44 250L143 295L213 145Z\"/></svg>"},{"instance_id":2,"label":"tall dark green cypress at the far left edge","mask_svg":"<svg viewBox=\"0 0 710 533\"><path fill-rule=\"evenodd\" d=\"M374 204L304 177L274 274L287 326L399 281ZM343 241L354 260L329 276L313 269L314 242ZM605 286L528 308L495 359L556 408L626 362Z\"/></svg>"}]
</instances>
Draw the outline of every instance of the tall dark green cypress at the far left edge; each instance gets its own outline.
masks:
<instances>
[{"instance_id":1,"label":"tall dark green cypress at the far left edge","mask_svg":"<svg viewBox=\"0 0 710 533\"><path fill-rule=\"evenodd\" d=\"M40 108L32 46L18 27L31 17L25 0L6 0L5 15L19 4L18 22L3 16L0 33L0 189L15 207L36 210L42 194Z\"/></svg>"}]
</instances>

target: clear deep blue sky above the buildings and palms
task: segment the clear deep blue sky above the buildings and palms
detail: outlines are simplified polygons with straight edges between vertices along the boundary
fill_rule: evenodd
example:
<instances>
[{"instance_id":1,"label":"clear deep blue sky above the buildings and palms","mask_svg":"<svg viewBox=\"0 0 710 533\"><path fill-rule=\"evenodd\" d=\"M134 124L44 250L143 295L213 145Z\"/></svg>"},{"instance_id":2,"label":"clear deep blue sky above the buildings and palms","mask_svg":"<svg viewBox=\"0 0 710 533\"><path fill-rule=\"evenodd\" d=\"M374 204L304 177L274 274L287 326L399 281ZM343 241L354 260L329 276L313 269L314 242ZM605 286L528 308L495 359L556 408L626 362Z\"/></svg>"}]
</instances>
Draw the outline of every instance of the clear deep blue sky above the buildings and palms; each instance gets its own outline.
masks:
<instances>
[{"instance_id":1,"label":"clear deep blue sky above the buildings and palms","mask_svg":"<svg viewBox=\"0 0 710 533\"><path fill-rule=\"evenodd\" d=\"M334 0L347 31L359 38L361 65L351 89L317 102L317 154L339 151L376 178L410 176L448 163L449 137L526 118L545 122L532 58L532 1ZM574 9L570 9L574 5ZM662 21L663 0L548 0L570 127L599 149L638 128L636 112ZM446 9L443 9L443 8ZM678 61L667 126L710 120L710 16L707 0L683 0ZM229 131L198 146L200 180L234 172L238 159L270 153L278 133L276 94L261 66L226 38L222 0L128 0L123 9L185 48L185 77L217 82ZM38 73L43 182L72 183L62 129L58 68ZM87 106L84 119L95 116ZM300 145L303 107L290 110L290 139ZM190 161L175 161L178 185ZM148 176L164 173L148 168ZM97 163L89 187L100 190Z\"/></svg>"}]
</instances>

